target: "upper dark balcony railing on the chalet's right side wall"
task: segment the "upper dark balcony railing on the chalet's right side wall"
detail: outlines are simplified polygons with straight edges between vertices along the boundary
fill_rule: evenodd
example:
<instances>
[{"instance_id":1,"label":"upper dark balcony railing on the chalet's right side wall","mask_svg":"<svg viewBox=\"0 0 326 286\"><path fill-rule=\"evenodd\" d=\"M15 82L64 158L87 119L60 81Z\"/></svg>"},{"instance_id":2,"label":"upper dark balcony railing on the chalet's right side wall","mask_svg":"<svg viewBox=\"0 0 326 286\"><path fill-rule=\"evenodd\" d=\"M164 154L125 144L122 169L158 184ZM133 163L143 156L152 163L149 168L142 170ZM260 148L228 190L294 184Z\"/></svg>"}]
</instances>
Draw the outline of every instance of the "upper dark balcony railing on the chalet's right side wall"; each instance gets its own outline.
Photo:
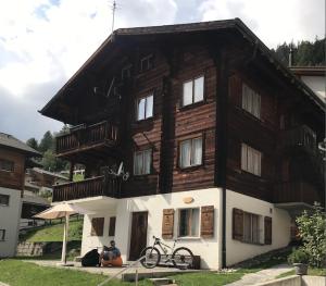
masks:
<instances>
[{"instance_id":1,"label":"upper dark balcony railing on the chalet's right side wall","mask_svg":"<svg viewBox=\"0 0 326 286\"><path fill-rule=\"evenodd\" d=\"M280 148L301 148L314 153L316 151L316 134L306 125L284 130L280 134Z\"/></svg>"}]
</instances>

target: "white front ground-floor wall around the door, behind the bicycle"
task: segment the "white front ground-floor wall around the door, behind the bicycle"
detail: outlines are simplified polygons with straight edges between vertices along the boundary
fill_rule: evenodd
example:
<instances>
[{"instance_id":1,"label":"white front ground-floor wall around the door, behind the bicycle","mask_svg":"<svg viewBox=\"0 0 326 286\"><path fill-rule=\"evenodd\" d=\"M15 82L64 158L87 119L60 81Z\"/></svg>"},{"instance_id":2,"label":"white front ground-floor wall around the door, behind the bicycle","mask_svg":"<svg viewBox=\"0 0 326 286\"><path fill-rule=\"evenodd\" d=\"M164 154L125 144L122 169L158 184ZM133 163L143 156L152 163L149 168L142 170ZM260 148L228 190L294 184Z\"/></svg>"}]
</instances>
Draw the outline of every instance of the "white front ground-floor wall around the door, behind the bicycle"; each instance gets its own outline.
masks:
<instances>
[{"instance_id":1,"label":"white front ground-floor wall around the door, behind the bicycle","mask_svg":"<svg viewBox=\"0 0 326 286\"><path fill-rule=\"evenodd\" d=\"M153 243L152 236L162 237L162 217L163 209L183 209L183 208L200 208L203 206L214 206L214 237L213 238L181 238L177 246L188 247L193 254L201 256L201 266L210 269L218 269L220 261L220 247L218 247L218 235L220 225L220 189L200 189L192 191L181 191L174 194L143 196L129 199L121 199L114 208L97 211L96 215L86 215L84 221L83 231L83 245L82 254L85 254L90 249L101 246L102 243L108 245L112 237L109 237L109 217L116 214L116 227L115 237L116 244L122 252L122 258L127 261L129 254L130 244L130 232L131 232L131 213L139 211L148 211L148 245ZM191 203L185 203L183 199L185 197L193 198ZM174 236L177 237L177 220L178 212L175 212L174 220ZM91 237L90 236L90 222L91 217L105 217L104 221L104 236L103 237ZM199 229L200 233L200 229ZM163 240L167 245L173 245L173 239Z\"/></svg>"}]
</instances>

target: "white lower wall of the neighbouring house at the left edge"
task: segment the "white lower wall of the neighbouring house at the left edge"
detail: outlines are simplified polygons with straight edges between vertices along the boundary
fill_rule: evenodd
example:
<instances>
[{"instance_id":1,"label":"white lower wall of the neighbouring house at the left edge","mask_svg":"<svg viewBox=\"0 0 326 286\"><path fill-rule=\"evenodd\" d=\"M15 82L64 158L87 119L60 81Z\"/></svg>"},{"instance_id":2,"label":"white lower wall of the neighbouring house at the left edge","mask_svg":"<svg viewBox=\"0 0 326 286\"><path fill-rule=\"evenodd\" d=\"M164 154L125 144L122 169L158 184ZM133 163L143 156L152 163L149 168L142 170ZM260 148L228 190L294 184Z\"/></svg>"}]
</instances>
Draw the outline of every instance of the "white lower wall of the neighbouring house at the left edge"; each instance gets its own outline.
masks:
<instances>
[{"instance_id":1,"label":"white lower wall of the neighbouring house at the left edge","mask_svg":"<svg viewBox=\"0 0 326 286\"><path fill-rule=\"evenodd\" d=\"M0 187L1 195L9 195L9 206L0 206L0 229L5 229L4 241L0 240L0 257L12 257L16 252L22 212L21 190Z\"/></svg>"}]
</instances>

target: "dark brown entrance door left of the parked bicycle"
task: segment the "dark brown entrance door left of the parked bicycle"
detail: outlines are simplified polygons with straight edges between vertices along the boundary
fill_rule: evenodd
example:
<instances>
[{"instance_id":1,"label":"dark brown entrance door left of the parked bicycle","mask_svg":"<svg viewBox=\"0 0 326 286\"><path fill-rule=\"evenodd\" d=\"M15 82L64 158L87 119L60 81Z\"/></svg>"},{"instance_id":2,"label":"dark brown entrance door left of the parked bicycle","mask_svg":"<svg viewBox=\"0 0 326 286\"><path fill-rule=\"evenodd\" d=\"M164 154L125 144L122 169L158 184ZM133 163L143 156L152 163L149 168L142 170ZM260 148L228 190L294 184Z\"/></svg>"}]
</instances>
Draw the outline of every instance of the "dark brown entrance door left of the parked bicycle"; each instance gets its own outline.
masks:
<instances>
[{"instance_id":1,"label":"dark brown entrance door left of the parked bicycle","mask_svg":"<svg viewBox=\"0 0 326 286\"><path fill-rule=\"evenodd\" d=\"M140 252L147 244L148 212L133 212L129 260L140 258Z\"/></svg>"}]
</instances>

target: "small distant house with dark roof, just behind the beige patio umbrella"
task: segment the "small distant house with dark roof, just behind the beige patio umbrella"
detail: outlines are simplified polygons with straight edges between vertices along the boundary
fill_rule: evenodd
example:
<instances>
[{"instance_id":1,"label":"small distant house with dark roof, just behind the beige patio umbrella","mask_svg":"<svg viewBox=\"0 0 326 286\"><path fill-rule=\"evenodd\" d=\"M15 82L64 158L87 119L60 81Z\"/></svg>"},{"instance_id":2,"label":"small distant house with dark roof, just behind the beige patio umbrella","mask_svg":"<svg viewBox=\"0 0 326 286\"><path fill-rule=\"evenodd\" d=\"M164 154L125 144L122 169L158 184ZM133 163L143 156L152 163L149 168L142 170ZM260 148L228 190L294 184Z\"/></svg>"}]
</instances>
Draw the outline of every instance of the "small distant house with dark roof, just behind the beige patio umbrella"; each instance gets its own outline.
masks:
<instances>
[{"instance_id":1,"label":"small distant house with dark roof, just behind the beige patio umbrella","mask_svg":"<svg viewBox=\"0 0 326 286\"><path fill-rule=\"evenodd\" d=\"M45 220L35 219L34 215L50 208L50 202L34 191L24 190L20 229L26 229L45 224Z\"/></svg>"}]
</instances>

